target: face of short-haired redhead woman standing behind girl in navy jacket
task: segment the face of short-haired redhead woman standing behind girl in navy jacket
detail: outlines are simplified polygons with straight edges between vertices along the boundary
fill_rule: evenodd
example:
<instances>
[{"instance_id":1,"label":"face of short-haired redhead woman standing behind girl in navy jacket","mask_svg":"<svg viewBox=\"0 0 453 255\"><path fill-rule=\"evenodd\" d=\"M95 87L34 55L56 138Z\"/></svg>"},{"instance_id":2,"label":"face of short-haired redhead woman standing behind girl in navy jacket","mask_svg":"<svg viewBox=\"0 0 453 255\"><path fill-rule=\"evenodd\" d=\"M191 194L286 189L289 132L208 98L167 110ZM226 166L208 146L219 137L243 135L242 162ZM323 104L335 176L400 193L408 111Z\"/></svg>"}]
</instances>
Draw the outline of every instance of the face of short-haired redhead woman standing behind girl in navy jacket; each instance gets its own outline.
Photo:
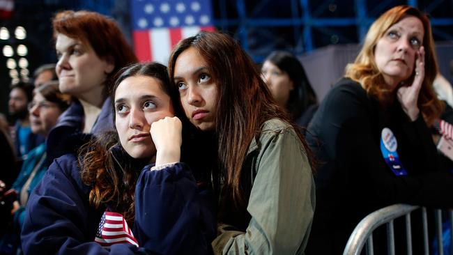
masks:
<instances>
[{"instance_id":1,"label":"face of short-haired redhead woman standing behind girl in navy jacket","mask_svg":"<svg viewBox=\"0 0 453 255\"><path fill-rule=\"evenodd\" d=\"M89 97L93 91L102 91L107 74L114 70L114 64L102 60L91 45L70 38L62 33L56 36L56 75L62 93L77 98Z\"/></svg>"}]
</instances>

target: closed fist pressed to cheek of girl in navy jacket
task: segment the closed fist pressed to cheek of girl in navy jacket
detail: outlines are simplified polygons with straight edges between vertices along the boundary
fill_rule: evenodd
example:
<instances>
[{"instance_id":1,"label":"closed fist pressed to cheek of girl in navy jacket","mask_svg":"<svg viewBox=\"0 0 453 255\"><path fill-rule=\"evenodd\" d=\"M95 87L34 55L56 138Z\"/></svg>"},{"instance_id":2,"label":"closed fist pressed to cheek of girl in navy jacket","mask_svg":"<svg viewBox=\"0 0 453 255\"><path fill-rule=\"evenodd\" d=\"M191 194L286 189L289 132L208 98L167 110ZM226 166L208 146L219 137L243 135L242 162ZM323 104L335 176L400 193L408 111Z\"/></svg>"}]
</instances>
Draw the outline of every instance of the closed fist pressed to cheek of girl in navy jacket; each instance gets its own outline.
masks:
<instances>
[{"instance_id":1,"label":"closed fist pressed to cheek of girl in navy jacket","mask_svg":"<svg viewBox=\"0 0 453 255\"><path fill-rule=\"evenodd\" d=\"M157 150L155 165L179 162L181 159L181 131L183 124L178 117L165 117L151 124L151 137Z\"/></svg>"}]
</instances>

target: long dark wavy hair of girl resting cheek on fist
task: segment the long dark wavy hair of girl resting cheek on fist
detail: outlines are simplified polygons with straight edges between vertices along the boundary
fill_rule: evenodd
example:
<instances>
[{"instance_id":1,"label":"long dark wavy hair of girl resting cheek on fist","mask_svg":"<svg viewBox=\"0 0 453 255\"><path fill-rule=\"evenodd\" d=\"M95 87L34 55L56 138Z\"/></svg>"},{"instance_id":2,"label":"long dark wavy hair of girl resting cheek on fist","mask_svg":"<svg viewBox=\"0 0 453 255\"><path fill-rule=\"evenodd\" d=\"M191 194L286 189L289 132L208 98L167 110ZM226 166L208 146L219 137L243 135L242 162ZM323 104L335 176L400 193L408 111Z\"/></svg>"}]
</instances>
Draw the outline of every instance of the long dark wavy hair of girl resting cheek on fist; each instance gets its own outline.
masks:
<instances>
[{"instance_id":1,"label":"long dark wavy hair of girl resting cheek on fist","mask_svg":"<svg viewBox=\"0 0 453 255\"><path fill-rule=\"evenodd\" d=\"M170 96L171 101L178 100L178 91L170 86L167 68L164 65L135 63L123 68L116 75L112 87L112 105L114 105L118 85L124 79L133 76L148 76L158 79L160 88ZM113 106L112 109L115 107ZM178 112L181 110L178 109ZM86 185L92 187L89 194L91 205L95 208L113 207L116 212L121 212L128 222L132 222L135 217L135 185L141 169L148 161L130 157L121 146L116 130L91 139L89 143L80 148L78 155L82 180Z\"/></svg>"}]
</instances>

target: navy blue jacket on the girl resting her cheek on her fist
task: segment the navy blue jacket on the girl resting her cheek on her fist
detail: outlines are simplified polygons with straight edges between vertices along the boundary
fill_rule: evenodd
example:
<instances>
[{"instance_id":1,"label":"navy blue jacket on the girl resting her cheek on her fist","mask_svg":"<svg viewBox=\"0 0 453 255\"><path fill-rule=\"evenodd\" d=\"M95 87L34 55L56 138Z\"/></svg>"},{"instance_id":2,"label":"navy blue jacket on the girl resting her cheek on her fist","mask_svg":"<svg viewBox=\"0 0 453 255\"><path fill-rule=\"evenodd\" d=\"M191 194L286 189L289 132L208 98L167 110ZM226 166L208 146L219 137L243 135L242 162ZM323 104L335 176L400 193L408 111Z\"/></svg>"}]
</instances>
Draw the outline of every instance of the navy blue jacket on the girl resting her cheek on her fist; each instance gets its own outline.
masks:
<instances>
[{"instance_id":1,"label":"navy blue jacket on the girl resting her cheek on her fist","mask_svg":"<svg viewBox=\"0 0 453 255\"><path fill-rule=\"evenodd\" d=\"M176 163L141 171L135 190L132 232L140 247L101 247L95 240L102 213L89 203L75 155L52 163L26 206L25 254L209 254L215 216L208 192L199 190L190 169Z\"/></svg>"}]
</instances>

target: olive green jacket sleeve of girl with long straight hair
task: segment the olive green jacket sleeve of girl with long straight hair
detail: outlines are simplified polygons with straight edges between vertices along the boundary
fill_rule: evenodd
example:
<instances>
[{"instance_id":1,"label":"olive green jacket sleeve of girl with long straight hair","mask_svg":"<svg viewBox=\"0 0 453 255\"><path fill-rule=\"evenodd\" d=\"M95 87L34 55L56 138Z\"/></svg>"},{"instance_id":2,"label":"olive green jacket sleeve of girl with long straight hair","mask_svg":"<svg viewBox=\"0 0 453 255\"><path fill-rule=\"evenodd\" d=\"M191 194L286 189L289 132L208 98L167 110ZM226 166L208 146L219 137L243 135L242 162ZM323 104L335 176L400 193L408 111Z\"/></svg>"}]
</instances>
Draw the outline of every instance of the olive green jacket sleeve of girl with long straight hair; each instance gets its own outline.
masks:
<instances>
[{"instance_id":1,"label":"olive green jacket sleeve of girl with long straight hair","mask_svg":"<svg viewBox=\"0 0 453 255\"><path fill-rule=\"evenodd\" d=\"M246 233L220 224L215 254L303 254L315 206L312 170L294 130L261 134Z\"/></svg>"}]
</instances>

